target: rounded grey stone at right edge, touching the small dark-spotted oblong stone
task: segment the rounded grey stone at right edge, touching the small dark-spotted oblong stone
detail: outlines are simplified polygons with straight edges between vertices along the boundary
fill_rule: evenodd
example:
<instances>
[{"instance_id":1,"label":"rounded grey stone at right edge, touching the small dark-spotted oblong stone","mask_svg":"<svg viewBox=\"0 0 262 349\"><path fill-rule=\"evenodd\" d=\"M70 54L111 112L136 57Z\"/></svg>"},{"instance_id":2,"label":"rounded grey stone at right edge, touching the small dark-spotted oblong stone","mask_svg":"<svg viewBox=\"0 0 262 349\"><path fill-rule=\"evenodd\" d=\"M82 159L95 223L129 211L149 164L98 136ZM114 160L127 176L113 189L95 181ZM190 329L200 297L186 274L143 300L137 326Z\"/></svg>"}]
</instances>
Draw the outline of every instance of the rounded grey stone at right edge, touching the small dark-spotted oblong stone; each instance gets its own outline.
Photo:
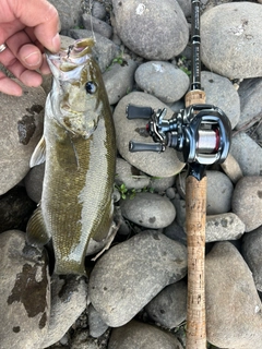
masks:
<instances>
[{"instance_id":1,"label":"rounded grey stone at right edge, touching the small dark-spotted oblong stone","mask_svg":"<svg viewBox=\"0 0 262 349\"><path fill-rule=\"evenodd\" d=\"M262 225L262 177L243 177L237 183L231 201L233 212L251 231Z\"/></svg>"}]
</instances>

